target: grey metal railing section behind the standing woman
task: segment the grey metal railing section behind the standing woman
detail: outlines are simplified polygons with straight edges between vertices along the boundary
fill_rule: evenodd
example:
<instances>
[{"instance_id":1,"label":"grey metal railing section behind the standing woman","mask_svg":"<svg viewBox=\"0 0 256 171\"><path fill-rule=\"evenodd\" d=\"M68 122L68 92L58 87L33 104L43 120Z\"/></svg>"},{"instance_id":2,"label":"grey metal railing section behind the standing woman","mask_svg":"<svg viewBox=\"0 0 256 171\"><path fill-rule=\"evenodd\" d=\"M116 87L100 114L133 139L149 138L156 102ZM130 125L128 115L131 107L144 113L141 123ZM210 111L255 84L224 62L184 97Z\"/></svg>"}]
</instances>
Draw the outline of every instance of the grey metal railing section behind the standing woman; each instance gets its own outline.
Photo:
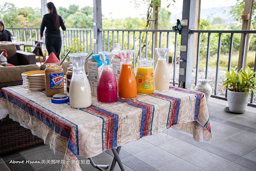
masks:
<instances>
[{"instance_id":1,"label":"grey metal railing section behind the standing woman","mask_svg":"<svg viewBox=\"0 0 256 171\"><path fill-rule=\"evenodd\" d=\"M33 45L34 41L40 40L40 28L6 28L17 41L25 44ZM67 28L66 31L61 30L62 52L71 47L77 48L83 52L91 52L93 49L93 29L77 29Z\"/></svg>"}]
</instances>

